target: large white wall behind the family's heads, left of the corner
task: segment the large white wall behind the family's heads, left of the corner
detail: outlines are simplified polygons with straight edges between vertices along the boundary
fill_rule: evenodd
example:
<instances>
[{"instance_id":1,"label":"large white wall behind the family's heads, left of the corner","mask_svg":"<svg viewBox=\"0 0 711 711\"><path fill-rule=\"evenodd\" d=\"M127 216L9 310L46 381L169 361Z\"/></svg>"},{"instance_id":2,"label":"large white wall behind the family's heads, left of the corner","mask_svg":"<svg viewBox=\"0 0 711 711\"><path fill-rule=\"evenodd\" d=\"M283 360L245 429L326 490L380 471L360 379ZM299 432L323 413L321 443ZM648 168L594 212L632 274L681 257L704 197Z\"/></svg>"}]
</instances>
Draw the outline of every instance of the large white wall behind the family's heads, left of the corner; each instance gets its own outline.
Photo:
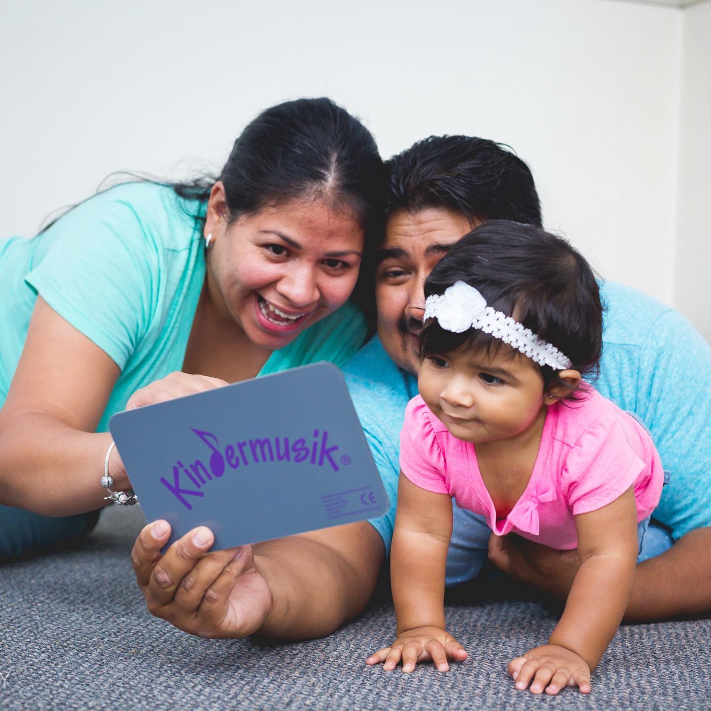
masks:
<instances>
[{"instance_id":1,"label":"large white wall behind the family's heads, left of the corner","mask_svg":"<svg viewBox=\"0 0 711 711\"><path fill-rule=\"evenodd\" d=\"M510 144L533 168L548 227L606 277L669 302L685 12L604 0L6 1L0 234L32 234L110 171L218 168L260 109L325 94L364 119L385 156L429 134Z\"/></svg>"}]
</instances>

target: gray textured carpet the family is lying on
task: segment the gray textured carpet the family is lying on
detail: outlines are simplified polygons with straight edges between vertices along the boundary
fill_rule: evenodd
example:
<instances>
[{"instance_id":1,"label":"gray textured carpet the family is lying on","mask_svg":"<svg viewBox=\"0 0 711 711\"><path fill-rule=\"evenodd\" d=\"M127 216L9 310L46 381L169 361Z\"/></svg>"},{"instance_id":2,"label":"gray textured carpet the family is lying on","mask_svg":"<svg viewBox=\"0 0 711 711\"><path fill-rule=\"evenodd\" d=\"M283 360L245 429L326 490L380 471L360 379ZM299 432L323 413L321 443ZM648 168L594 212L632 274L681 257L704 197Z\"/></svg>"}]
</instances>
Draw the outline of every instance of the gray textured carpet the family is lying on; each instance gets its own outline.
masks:
<instances>
[{"instance_id":1,"label":"gray textured carpet the family is lying on","mask_svg":"<svg viewBox=\"0 0 711 711\"><path fill-rule=\"evenodd\" d=\"M525 597L456 594L447 616L470 658L446 674L365 666L394 629L389 602L308 643L191 637L145 609L129 560L141 525L109 509L76 550L0 567L0 709L711 709L711 621L621 629L587 697L513 687L506 663L556 619Z\"/></svg>"}]
</instances>

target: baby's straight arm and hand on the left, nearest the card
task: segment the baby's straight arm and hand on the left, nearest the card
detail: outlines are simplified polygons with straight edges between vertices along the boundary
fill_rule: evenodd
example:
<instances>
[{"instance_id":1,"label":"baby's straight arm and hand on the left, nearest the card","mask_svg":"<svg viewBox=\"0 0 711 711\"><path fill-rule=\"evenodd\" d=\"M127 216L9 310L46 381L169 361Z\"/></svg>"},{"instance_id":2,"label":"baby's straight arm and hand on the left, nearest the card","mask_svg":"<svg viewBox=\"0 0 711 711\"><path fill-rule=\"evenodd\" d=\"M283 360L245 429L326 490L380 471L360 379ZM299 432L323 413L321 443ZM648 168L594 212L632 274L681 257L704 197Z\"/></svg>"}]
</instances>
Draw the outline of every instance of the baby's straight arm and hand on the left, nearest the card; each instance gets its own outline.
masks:
<instances>
[{"instance_id":1,"label":"baby's straight arm and hand on the left, nearest the card","mask_svg":"<svg viewBox=\"0 0 711 711\"><path fill-rule=\"evenodd\" d=\"M451 498L415 486L400 472L390 573L397 640L366 663L409 672L418 661L447 671L447 659L464 661L464 648L444 629L444 570L451 538Z\"/></svg>"}]
</instances>

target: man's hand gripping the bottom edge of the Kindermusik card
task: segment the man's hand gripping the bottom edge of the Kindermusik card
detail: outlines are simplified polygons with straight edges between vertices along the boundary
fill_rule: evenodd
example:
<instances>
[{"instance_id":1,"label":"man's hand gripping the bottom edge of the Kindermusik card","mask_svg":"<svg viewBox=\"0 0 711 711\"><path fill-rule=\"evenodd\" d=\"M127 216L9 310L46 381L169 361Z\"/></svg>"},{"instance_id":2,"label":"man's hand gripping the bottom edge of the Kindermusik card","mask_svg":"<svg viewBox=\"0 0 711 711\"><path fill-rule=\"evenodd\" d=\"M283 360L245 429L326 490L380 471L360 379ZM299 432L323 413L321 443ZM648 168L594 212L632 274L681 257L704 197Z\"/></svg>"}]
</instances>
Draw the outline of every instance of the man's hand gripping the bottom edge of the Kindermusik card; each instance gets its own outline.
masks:
<instances>
[{"instance_id":1,"label":"man's hand gripping the bottom edge of the Kindermusik card","mask_svg":"<svg viewBox=\"0 0 711 711\"><path fill-rule=\"evenodd\" d=\"M200 637L241 638L260 629L272 593L252 547L205 552L215 537L204 526L163 547L171 528L154 521L141 530L132 560L151 614Z\"/></svg>"}]
</instances>

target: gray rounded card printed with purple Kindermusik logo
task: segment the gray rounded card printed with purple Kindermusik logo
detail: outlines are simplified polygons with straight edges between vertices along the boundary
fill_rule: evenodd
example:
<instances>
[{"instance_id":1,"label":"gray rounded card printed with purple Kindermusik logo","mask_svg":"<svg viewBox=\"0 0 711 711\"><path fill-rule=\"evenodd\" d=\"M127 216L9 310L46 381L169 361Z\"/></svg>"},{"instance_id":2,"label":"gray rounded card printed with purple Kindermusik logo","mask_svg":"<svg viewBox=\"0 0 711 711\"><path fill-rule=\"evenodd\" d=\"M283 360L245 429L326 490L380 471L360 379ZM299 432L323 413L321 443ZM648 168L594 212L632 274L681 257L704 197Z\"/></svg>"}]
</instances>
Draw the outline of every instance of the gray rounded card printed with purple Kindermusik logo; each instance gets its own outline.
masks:
<instances>
[{"instance_id":1,"label":"gray rounded card printed with purple Kindermusik logo","mask_svg":"<svg viewBox=\"0 0 711 711\"><path fill-rule=\"evenodd\" d=\"M330 363L127 410L109 429L146 518L170 523L169 544L198 525L222 549L387 510Z\"/></svg>"}]
</instances>

